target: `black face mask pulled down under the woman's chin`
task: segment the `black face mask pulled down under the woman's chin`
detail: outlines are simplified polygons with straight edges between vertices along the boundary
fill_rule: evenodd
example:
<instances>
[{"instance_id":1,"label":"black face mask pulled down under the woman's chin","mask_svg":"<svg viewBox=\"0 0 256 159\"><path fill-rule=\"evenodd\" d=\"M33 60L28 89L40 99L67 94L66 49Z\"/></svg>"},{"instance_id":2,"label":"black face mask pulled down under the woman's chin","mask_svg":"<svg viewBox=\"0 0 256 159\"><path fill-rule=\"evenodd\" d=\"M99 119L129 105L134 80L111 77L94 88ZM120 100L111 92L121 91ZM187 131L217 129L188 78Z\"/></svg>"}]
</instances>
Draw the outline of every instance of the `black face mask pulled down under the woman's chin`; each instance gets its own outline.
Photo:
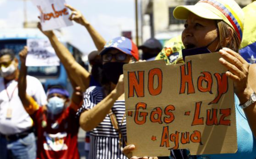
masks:
<instances>
[{"instance_id":1,"label":"black face mask pulled down under the woman's chin","mask_svg":"<svg viewBox=\"0 0 256 159\"><path fill-rule=\"evenodd\" d=\"M192 55L204 54L204 53L211 53L211 51L208 49L208 46L210 46L216 39L217 39L217 37L213 41L211 41L208 45L206 45L204 47L183 49L182 50L183 61L185 62L185 57L186 56L192 56Z\"/></svg>"}]
</instances>

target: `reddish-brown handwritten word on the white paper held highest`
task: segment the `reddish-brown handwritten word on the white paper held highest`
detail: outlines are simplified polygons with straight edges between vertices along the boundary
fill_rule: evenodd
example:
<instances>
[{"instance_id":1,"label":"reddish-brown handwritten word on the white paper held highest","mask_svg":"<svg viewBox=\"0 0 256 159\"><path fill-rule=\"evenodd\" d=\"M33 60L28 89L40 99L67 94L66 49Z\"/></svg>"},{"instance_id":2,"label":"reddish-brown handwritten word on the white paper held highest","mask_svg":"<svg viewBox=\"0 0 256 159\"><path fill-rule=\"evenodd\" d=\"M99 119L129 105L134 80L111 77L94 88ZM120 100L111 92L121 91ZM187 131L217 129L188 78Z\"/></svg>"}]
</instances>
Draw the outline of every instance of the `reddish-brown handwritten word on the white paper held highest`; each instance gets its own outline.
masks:
<instances>
[{"instance_id":1,"label":"reddish-brown handwritten word on the white paper held highest","mask_svg":"<svg viewBox=\"0 0 256 159\"><path fill-rule=\"evenodd\" d=\"M43 22L50 20L51 18L58 18L63 15L68 15L67 8L57 11L54 7L54 4L52 4L53 12L51 13L43 13L42 8L40 6L37 6L37 8L40 10L42 14Z\"/></svg>"}]
</instances>

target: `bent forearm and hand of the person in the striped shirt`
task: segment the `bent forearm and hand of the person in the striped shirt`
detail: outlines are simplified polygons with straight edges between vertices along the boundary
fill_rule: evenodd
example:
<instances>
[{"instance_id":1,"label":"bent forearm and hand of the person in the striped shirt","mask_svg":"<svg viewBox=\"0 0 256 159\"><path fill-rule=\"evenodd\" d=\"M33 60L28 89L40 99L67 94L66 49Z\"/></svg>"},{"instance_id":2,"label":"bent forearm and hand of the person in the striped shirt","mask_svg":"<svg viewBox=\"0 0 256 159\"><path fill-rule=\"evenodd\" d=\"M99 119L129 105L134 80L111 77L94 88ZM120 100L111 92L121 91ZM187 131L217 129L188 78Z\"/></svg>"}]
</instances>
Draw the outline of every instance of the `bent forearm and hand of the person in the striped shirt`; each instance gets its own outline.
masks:
<instances>
[{"instance_id":1,"label":"bent forearm and hand of the person in the striped shirt","mask_svg":"<svg viewBox=\"0 0 256 159\"><path fill-rule=\"evenodd\" d=\"M80 116L80 127L85 131L90 131L97 127L110 113L110 109L116 102L116 100L124 94L124 86L123 86L123 75L119 77L118 84L116 88L111 91L111 93L104 98L101 102L99 102L92 109L88 109L81 113Z\"/></svg>"}]
</instances>

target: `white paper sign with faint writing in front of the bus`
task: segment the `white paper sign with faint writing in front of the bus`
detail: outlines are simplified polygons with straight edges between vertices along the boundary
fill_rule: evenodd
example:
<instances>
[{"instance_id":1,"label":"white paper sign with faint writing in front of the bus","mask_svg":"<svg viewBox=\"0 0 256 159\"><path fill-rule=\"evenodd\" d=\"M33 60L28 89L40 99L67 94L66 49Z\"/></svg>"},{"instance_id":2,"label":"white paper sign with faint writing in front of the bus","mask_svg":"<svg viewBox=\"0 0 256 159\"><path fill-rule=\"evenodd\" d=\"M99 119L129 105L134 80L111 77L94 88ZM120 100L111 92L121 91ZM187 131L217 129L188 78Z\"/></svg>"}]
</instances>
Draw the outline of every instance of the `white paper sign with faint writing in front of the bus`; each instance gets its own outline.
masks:
<instances>
[{"instance_id":1,"label":"white paper sign with faint writing in front of the bus","mask_svg":"<svg viewBox=\"0 0 256 159\"><path fill-rule=\"evenodd\" d=\"M28 56L26 66L56 66L59 65L59 58L56 56L49 40L28 39Z\"/></svg>"}]
</instances>

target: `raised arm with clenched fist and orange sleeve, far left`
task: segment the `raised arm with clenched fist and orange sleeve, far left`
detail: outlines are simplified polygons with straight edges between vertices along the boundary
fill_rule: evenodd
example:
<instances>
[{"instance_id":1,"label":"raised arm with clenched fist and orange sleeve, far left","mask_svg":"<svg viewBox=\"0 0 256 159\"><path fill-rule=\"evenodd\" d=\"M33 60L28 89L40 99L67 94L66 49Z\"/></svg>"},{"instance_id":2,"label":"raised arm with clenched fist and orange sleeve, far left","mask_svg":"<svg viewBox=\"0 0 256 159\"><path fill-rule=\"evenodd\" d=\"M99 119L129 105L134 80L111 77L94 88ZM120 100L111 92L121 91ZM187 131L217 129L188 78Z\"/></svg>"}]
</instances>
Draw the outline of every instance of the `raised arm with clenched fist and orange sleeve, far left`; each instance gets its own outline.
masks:
<instances>
[{"instance_id":1,"label":"raised arm with clenched fist and orange sleeve, far left","mask_svg":"<svg viewBox=\"0 0 256 159\"><path fill-rule=\"evenodd\" d=\"M20 57L20 71L19 71L19 78L18 78L18 95L19 98L26 110L29 114L33 114L38 108L39 105L32 99L31 96L26 94L26 56L28 54L28 48L25 46L22 51L19 53Z\"/></svg>"}]
</instances>

